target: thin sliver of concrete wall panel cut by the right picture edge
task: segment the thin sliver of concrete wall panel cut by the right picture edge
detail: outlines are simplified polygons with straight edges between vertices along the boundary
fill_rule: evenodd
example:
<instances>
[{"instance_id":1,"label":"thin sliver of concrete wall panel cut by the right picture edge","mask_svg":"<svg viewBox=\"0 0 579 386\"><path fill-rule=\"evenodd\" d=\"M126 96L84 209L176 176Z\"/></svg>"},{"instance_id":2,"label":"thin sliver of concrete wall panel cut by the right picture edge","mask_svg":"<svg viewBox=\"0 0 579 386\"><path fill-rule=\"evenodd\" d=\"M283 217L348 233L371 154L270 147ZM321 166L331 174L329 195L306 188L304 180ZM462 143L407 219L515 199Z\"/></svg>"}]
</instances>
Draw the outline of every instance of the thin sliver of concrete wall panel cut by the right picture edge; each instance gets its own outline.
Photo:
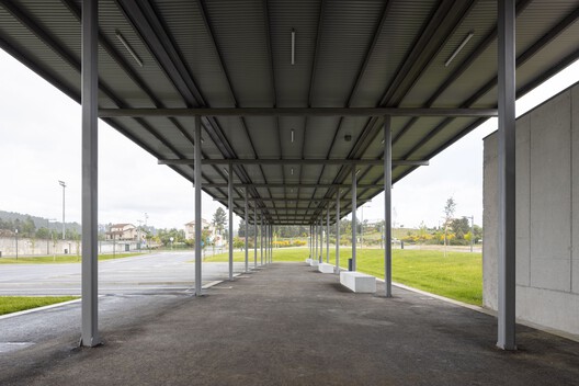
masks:
<instances>
[{"instance_id":1,"label":"thin sliver of concrete wall panel cut by the right picture edge","mask_svg":"<svg viewBox=\"0 0 579 386\"><path fill-rule=\"evenodd\" d=\"M571 292L579 294L579 87L571 90L572 260ZM579 302L578 302L579 303Z\"/></svg>"}]
</instances>

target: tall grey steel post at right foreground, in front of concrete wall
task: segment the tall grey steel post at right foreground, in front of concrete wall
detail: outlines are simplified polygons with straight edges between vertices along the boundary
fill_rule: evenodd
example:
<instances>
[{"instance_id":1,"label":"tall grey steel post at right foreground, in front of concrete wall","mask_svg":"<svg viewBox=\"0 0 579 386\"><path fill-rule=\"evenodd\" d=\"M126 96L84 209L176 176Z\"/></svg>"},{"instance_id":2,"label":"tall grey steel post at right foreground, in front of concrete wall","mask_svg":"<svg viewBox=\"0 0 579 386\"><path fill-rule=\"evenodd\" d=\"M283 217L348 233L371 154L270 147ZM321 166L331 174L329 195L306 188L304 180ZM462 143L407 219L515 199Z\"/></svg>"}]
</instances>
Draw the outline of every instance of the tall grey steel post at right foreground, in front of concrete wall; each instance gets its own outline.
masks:
<instances>
[{"instance_id":1,"label":"tall grey steel post at right foreground, in front of concrete wall","mask_svg":"<svg viewBox=\"0 0 579 386\"><path fill-rule=\"evenodd\" d=\"M515 13L514 0L499 2L499 314L498 342L515 344Z\"/></svg>"}]
</instances>

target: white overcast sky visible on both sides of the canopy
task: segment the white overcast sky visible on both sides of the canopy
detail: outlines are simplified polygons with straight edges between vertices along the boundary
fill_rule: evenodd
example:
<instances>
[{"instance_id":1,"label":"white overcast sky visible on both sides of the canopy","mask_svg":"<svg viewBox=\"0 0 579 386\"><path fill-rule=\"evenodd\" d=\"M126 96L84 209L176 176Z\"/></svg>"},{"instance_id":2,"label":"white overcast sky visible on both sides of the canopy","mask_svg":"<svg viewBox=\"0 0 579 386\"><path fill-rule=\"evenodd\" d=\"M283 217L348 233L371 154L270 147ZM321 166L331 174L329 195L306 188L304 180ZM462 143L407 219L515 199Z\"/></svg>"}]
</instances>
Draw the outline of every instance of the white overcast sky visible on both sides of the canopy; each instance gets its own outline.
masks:
<instances>
[{"instance_id":1,"label":"white overcast sky visible on both sides of the canopy","mask_svg":"<svg viewBox=\"0 0 579 386\"><path fill-rule=\"evenodd\" d=\"M522 114L579 80L579 63L518 102ZM0 209L80 223L80 106L0 49ZM521 103L522 102L522 103ZM483 223L483 138L487 122L398 182L393 191L396 225L436 226L449 197L456 216ZM103 122L99 122L99 223L145 219L158 228L192 220L193 186ZM203 195L203 218L219 204ZM364 205L364 219L379 220L384 195ZM362 212L359 209L359 217Z\"/></svg>"}]
</instances>

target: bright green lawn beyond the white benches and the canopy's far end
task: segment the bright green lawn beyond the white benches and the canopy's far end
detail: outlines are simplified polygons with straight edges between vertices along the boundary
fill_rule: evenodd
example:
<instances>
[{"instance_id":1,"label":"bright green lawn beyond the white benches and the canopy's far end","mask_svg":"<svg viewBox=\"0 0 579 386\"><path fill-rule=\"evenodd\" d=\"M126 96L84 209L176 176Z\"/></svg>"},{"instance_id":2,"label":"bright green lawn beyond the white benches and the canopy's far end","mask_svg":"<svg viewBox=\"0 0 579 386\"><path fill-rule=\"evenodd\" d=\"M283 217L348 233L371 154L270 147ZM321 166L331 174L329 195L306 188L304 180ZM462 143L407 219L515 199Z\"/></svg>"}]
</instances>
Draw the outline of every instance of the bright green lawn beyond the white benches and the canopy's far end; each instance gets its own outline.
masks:
<instances>
[{"instance_id":1,"label":"bright green lawn beyond the white benches and the canopy's far end","mask_svg":"<svg viewBox=\"0 0 579 386\"><path fill-rule=\"evenodd\" d=\"M283 248L273 251L273 261L304 261L309 256L307 248ZM340 249L340 266L348 268L351 249ZM228 254L217 254L205 261L227 261ZM325 258L326 259L326 258ZM336 260L336 248L330 248L330 263ZM234 261L245 261L245 252L235 252ZM258 263L260 263L258 250ZM249 263L253 263L253 251L249 251ZM384 279L384 250L359 249L357 270ZM483 304L483 256L470 252L395 249L393 250L393 281L480 306Z\"/></svg>"}]
</instances>

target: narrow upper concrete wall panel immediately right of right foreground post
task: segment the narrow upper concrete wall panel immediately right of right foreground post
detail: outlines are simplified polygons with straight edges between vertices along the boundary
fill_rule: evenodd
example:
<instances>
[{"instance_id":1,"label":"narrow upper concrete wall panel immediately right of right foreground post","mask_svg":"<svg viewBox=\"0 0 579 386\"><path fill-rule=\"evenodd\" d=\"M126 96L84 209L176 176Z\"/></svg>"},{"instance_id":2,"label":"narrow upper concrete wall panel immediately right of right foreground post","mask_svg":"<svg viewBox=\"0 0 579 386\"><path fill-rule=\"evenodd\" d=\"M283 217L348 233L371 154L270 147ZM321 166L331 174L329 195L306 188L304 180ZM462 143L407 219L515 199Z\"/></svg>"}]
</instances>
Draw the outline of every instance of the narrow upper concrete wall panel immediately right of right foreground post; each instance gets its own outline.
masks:
<instances>
[{"instance_id":1,"label":"narrow upper concrete wall panel immediately right of right foreground post","mask_svg":"<svg viewBox=\"0 0 579 386\"><path fill-rule=\"evenodd\" d=\"M531 116L516 121L516 284L530 284Z\"/></svg>"}]
</instances>

